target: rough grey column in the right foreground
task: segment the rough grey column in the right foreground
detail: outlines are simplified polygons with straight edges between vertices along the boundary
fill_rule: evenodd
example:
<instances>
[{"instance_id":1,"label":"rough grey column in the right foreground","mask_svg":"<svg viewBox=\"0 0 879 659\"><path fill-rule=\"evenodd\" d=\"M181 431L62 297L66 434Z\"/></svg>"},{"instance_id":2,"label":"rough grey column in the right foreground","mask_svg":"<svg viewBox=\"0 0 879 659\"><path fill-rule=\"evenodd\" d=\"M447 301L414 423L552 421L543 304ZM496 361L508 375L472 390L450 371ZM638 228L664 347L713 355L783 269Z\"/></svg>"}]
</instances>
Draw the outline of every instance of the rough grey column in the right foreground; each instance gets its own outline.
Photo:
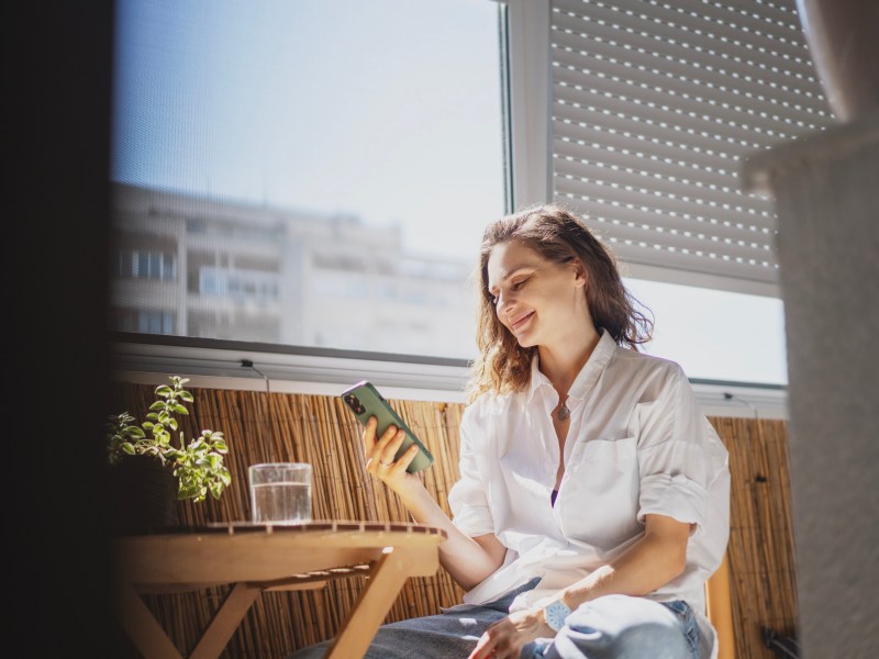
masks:
<instances>
[{"instance_id":1,"label":"rough grey column in the right foreground","mask_svg":"<svg viewBox=\"0 0 879 659\"><path fill-rule=\"evenodd\" d=\"M743 179L779 223L802 656L879 657L879 113Z\"/></svg>"}]
</instances>

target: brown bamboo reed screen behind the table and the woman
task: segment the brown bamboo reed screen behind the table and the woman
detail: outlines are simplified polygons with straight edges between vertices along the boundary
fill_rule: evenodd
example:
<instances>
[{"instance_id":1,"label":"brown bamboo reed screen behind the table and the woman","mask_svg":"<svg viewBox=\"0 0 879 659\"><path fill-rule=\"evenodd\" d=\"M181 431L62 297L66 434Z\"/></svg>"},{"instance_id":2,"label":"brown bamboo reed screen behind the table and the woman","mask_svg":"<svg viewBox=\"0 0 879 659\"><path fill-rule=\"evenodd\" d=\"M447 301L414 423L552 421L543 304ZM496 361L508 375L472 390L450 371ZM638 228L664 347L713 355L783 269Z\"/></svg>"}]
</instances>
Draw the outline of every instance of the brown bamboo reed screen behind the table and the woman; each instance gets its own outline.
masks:
<instances>
[{"instance_id":1,"label":"brown bamboo reed screen behind the table and the woman","mask_svg":"<svg viewBox=\"0 0 879 659\"><path fill-rule=\"evenodd\" d=\"M142 421L154 399L149 384L120 383L113 411L127 410ZM178 504L180 523L249 518L247 467L254 462L302 461L314 468L312 514L321 520L409 522L397 496L364 469L360 427L341 399L254 391L191 389L193 413L181 420L187 438L203 428L222 431L232 484L220 500ZM457 480L463 405L391 400L433 454L422 472L424 484L448 513L446 494ZM732 528L731 591L736 654L771 659L760 626L793 632L797 602L788 498L783 422L710 418L730 449ZM174 557L168 557L174 560ZM364 587L365 577L329 582L318 591L265 592L232 637L227 659L280 658L332 637ZM196 593L146 595L170 638L186 656L209 624L229 588ZM443 570L409 580L387 622L438 613L459 602L463 592Z\"/></svg>"}]
</instances>

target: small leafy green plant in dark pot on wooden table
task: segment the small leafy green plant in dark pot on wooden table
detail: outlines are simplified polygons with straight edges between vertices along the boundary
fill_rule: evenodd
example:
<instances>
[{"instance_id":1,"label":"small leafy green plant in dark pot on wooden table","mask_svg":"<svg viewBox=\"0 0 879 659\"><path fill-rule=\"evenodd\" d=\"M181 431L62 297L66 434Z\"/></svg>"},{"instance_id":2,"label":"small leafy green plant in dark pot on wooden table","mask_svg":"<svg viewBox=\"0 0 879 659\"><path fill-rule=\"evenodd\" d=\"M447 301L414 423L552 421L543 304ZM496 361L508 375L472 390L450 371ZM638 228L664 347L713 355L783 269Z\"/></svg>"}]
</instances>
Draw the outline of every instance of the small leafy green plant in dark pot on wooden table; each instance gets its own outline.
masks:
<instances>
[{"instance_id":1,"label":"small leafy green plant in dark pot on wooden table","mask_svg":"<svg viewBox=\"0 0 879 659\"><path fill-rule=\"evenodd\" d=\"M110 465L111 525L116 532L143 532L176 522L176 501L214 499L232 481L224 462L229 453L223 433L201 431L187 442L178 434L178 415L192 402L189 379L170 376L170 386L156 388L156 401L138 423L129 412L107 417ZM178 434L175 440L175 434Z\"/></svg>"}]
</instances>

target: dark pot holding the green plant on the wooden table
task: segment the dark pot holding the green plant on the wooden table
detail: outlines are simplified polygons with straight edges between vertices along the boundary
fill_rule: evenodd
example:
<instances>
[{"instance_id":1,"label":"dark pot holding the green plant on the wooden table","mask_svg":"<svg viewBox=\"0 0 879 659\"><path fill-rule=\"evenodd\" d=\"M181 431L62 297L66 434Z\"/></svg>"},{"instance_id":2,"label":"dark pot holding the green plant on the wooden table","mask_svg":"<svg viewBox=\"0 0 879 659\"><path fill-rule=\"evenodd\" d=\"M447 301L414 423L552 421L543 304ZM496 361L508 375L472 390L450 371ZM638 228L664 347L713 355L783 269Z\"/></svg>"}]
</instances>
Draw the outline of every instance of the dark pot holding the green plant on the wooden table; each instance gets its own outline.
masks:
<instances>
[{"instance_id":1,"label":"dark pot holding the green plant on the wooden table","mask_svg":"<svg viewBox=\"0 0 879 659\"><path fill-rule=\"evenodd\" d=\"M152 456L125 456L108 467L111 535L138 535L177 524L174 471Z\"/></svg>"}]
</instances>

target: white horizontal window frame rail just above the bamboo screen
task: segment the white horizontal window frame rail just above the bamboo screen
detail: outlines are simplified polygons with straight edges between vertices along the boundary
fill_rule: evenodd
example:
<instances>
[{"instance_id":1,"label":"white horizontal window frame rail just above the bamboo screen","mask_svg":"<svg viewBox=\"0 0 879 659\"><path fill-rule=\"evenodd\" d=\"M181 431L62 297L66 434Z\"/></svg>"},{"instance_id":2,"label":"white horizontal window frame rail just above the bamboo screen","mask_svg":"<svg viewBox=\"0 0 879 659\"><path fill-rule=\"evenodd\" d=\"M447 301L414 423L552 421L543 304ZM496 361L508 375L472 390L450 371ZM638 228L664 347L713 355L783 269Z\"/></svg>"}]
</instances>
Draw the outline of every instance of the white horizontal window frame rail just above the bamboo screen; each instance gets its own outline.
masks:
<instances>
[{"instance_id":1,"label":"white horizontal window frame rail just above the bamboo screen","mask_svg":"<svg viewBox=\"0 0 879 659\"><path fill-rule=\"evenodd\" d=\"M387 398L464 403L469 365L464 359L387 355L177 336L124 335L112 342L115 378L165 384L168 375L191 387L337 395L369 380ZM708 415L787 418L781 386L690 380Z\"/></svg>"}]
</instances>

